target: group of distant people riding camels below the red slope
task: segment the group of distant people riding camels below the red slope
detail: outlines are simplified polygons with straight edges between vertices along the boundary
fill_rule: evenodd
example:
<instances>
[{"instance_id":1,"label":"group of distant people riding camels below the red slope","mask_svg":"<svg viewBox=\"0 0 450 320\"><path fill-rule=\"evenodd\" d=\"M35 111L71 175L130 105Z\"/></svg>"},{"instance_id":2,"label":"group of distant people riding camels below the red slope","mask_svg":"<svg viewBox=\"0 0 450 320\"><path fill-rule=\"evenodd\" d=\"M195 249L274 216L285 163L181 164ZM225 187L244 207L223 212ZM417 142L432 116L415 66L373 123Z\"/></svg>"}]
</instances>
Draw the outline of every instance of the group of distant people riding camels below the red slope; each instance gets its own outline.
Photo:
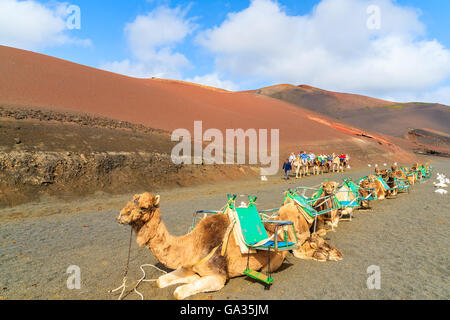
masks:
<instances>
[{"instance_id":1,"label":"group of distant people riding camels below the red slope","mask_svg":"<svg viewBox=\"0 0 450 320\"><path fill-rule=\"evenodd\" d=\"M337 159L339 159L339 163L340 166L344 166L349 164L349 160L350 160L350 156L348 154L345 153L341 153L340 155L336 155L335 153L333 154L319 154L316 155L314 154L314 152L305 152L305 151L301 151L298 154L295 154L294 152L292 152L289 155L289 158L286 159L286 161L283 163L283 170L285 172L285 179L288 180L289 179L289 171L291 171L293 169L294 166L294 161L296 161L297 159L300 159L301 162L305 165L305 166L309 166L309 167L313 167L314 164L319 163L322 168L327 168L327 172L330 172L330 168L332 168L332 163L336 162ZM318 160L318 161L316 161ZM309 172L308 172L309 175Z\"/></svg>"}]
</instances>

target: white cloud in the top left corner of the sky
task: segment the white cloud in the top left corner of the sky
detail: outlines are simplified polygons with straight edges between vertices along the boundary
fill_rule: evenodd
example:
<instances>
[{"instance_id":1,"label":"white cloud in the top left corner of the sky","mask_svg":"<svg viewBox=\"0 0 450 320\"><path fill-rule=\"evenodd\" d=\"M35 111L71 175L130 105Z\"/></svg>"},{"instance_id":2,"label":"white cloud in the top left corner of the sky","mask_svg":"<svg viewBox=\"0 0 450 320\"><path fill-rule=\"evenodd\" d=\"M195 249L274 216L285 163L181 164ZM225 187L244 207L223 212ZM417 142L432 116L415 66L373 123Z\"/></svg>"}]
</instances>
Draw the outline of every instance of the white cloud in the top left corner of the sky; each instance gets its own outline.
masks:
<instances>
[{"instance_id":1,"label":"white cloud in the top left corner of the sky","mask_svg":"<svg viewBox=\"0 0 450 320\"><path fill-rule=\"evenodd\" d=\"M76 44L89 46L90 40L68 35L67 4L44 6L34 0L0 0L0 44L36 50Z\"/></svg>"}]
</instances>

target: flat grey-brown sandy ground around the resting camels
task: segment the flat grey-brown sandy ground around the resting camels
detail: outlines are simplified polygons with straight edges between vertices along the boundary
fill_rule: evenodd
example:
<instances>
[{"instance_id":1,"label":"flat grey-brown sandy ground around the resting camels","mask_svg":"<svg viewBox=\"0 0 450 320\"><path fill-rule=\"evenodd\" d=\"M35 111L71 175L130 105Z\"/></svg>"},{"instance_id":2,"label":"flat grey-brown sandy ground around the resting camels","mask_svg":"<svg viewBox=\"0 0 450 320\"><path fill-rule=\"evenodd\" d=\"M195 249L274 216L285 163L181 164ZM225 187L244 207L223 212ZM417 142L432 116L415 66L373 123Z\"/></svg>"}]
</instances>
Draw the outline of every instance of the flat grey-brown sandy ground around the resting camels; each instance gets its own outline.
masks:
<instances>
[{"instance_id":1,"label":"flat grey-brown sandy ground around the resting camels","mask_svg":"<svg viewBox=\"0 0 450 320\"><path fill-rule=\"evenodd\" d=\"M435 172L450 175L450 161L435 159ZM169 231L182 235L198 209L219 209L226 193L258 196L258 208L279 207L288 187L314 186L325 178L341 181L359 178L368 169L352 169L285 182L234 182L180 188L161 193L163 219ZM433 178L434 180L434 178ZM434 192L432 181L413 186L410 195L378 201L373 211L356 212L351 222L341 222L326 240L344 255L340 262L305 261L289 255L274 273L270 290L246 277L231 279L216 293L192 299L449 299L449 195ZM107 198L105 198L104 201ZM129 196L131 199L131 195ZM122 282L130 229L114 218L128 198L110 199L116 209L72 213L67 205L60 214L0 222L0 299L117 299L109 294ZM120 206L119 206L120 204ZM80 207L83 205L80 203ZM89 207L87 205L85 208ZM104 204L103 208L111 205ZM65 212L65 210L67 210ZM79 211L79 210L76 210ZM139 266L157 264L151 252L132 244L129 278L141 277ZM69 290L71 265L81 268L81 289ZM367 289L367 268L381 270L381 289ZM147 272L150 278L157 271ZM173 299L175 287L158 289L143 283L146 299ZM126 299L138 299L131 293Z\"/></svg>"}]
</instances>

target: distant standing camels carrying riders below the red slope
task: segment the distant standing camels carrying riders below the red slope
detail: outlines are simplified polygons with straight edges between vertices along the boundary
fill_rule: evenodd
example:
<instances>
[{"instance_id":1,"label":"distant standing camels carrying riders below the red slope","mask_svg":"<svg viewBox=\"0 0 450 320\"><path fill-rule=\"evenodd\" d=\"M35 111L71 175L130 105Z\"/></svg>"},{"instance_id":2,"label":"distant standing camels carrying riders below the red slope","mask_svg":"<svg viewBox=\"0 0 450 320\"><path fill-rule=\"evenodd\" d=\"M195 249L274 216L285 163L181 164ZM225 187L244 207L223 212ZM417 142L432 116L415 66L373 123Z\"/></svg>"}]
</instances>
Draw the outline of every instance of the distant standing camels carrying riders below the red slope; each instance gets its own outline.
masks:
<instances>
[{"instance_id":1,"label":"distant standing camels carrying riders below the red slope","mask_svg":"<svg viewBox=\"0 0 450 320\"><path fill-rule=\"evenodd\" d=\"M345 168L348 166L348 160L345 159L341 161L338 156L333 155L333 160L330 161L320 161L315 158L312 161L308 161L302 158L295 158L292 161L292 168L295 171L295 178L300 179L309 175L321 175L330 172L344 172Z\"/></svg>"}]
</instances>

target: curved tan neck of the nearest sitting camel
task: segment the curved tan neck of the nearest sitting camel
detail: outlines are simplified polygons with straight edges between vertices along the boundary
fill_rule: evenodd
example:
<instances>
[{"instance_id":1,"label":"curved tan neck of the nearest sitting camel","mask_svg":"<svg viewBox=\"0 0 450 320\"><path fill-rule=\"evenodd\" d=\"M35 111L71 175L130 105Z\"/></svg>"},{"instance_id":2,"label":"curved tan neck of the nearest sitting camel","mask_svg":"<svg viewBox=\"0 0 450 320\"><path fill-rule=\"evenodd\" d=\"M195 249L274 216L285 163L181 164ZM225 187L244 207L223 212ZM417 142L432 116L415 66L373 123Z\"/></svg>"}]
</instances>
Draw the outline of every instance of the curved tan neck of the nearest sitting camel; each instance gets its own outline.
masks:
<instances>
[{"instance_id":1,"label":"curved tan neck of the nearest sitting camel","mask_svg":"<svg viewBox=\"0 0 450 320\"><path fill-rule=\"evenodd\" d=\"M138 230L137 230L138 229ZM161 220L159 209L141 228L135 227L136 241L139 246L146 245L155 258L170 269L178 269L190 261L187 257L192 251L191 237L174 237Z\"/></svg>"}]
</instances>

